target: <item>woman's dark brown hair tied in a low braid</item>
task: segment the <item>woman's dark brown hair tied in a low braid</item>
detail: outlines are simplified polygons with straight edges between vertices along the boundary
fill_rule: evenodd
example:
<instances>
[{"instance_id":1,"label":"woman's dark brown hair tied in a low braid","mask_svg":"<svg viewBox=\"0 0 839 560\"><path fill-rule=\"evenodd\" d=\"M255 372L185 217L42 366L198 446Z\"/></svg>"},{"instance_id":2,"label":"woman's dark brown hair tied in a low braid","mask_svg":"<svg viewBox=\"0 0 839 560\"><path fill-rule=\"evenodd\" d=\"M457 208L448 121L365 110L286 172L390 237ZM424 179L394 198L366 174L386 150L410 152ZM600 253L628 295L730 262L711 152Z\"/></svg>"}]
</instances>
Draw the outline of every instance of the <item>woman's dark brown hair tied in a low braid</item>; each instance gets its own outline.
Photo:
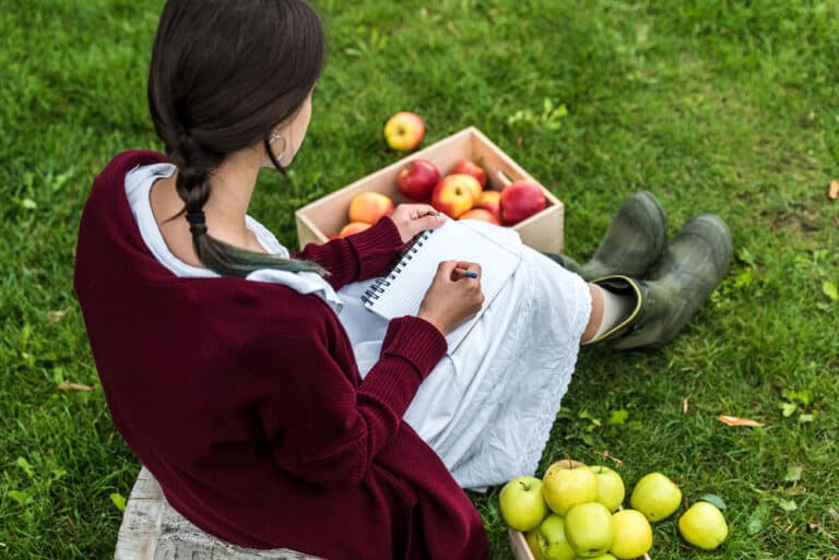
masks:
<instances>
[{"instance_id":1,"label":"woman's dark brown hair tied in a low braid","mask_svg":"<svg viewBox=\"0 0 839 560\"><path fill-rule=\"evenodd\" d=\"M223 276L259 269L324 273L308 261L251 252L214 239L203 224L212 172L293 117L320 76L323 31L305 0L168 0L149 71L157 135L178 168L177 191L201 262Z\"/></svg>"}]
</instances>

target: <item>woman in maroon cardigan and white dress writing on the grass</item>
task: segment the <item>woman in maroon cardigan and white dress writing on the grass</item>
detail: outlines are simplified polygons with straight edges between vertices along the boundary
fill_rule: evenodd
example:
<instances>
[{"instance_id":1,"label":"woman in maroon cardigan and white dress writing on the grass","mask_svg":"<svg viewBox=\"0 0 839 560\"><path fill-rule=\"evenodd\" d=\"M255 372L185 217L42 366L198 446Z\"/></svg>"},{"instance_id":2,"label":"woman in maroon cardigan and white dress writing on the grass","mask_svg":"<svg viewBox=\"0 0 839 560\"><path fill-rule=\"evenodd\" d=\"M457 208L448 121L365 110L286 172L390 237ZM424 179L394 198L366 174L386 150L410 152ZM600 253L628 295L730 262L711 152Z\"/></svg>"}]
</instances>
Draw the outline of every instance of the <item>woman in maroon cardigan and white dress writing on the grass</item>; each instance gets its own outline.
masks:
<instances>
[{"instance_id":1,"label":"woman in maroon cardigan and white dress writing on the grass","mask_svg":"<svg viewBox=\"0 0 839 560\"><path fill-rule=\"evenodd\" d=\"M486 558L461 488L535 469L581 342L675 335L724 274L728 230L700 216L665 248L660 206L637 195L587 284L493 228L522 265L447 356L445 333L483 305L478 263L441 263L417 317L388 323L357 298L441 224L429 206L293 257L247 215L259 170L303 143L323 53L304 0L167 2L149 76L166 155L117 155L80 225L74 285L108 406L169 503L218 538Z\"/></svg>"}]
</instances>

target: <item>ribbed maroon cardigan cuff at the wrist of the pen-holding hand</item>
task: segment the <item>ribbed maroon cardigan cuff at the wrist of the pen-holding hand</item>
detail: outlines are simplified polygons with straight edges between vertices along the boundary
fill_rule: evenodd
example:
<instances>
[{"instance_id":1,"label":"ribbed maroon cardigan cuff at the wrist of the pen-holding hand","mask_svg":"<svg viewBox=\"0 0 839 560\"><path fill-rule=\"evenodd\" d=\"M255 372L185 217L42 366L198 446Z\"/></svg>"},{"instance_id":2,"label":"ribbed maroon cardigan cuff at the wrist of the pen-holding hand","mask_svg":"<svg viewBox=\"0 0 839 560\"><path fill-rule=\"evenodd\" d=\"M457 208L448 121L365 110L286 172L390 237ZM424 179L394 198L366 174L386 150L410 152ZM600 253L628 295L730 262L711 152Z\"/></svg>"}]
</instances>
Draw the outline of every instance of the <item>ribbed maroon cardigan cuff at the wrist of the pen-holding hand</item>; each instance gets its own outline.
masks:
<instances>
[{"instance_id":1,"label":"ribbed maroon cardigan cuff at the wrist of the pen-holding hand","mask_svg":"<svg viewBox=\"0 0 839 560\"><path fill-rule=\"evenodd\" d=\"M446 337L436 326L425 319L407 315L390 321L381 355L404 359L420 379L425 379L446 356L448 348Z\"/></svg>"}]
</instances>

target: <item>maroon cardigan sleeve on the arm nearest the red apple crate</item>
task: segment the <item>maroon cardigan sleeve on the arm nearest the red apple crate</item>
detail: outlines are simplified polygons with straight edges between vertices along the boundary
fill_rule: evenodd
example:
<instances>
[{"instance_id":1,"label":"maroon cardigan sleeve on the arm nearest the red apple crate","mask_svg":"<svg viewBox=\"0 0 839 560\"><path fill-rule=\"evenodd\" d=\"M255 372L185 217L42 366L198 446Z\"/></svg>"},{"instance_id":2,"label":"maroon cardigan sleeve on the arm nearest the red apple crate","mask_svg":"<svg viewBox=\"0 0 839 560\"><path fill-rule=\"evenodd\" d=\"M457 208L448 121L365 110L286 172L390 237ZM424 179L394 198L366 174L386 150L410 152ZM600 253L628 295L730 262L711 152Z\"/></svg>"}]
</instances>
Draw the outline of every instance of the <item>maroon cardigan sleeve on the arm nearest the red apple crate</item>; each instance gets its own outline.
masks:
<instances>
[{"instance_id":1,"label":"maroon cardigan sleeve on the arm nearest the red apple crate","mask_svg":"<svg viewBox=\"0 0 839 560\"><path fill-rule=\"evenodd\" d=\"M330 272L327 281L341 289L351 282L381 276L405 248L395 224L383 217L375 226L328 243L308 243L295 259L312 261Z\"/></svg>"}]
</instances>

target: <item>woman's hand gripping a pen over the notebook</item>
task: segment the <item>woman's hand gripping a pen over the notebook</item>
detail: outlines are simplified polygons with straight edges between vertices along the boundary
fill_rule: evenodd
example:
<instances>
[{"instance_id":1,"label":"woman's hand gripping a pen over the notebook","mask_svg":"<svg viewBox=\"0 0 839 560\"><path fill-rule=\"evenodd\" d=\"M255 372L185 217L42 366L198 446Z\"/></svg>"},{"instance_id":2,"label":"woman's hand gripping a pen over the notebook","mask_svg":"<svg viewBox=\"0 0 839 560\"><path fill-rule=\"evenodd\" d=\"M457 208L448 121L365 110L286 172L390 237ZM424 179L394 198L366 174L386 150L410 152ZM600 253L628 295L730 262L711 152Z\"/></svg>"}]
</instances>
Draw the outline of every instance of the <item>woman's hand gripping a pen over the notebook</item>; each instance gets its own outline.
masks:
<instances>
[{"instance_id":1,"label":"woman's hand gripping a pen over the notebook","mask_svg":"<svg viewBox=\"0 0 839 560\"><path fill-rule=\"evenodd\" d=\"M466 273L474 273L472 278ZM474 315L484 305L481 291L481 265L462 261L444 261L437 266L417 317L425 319L442 334Z\"/></svg>"}]
</instances>

